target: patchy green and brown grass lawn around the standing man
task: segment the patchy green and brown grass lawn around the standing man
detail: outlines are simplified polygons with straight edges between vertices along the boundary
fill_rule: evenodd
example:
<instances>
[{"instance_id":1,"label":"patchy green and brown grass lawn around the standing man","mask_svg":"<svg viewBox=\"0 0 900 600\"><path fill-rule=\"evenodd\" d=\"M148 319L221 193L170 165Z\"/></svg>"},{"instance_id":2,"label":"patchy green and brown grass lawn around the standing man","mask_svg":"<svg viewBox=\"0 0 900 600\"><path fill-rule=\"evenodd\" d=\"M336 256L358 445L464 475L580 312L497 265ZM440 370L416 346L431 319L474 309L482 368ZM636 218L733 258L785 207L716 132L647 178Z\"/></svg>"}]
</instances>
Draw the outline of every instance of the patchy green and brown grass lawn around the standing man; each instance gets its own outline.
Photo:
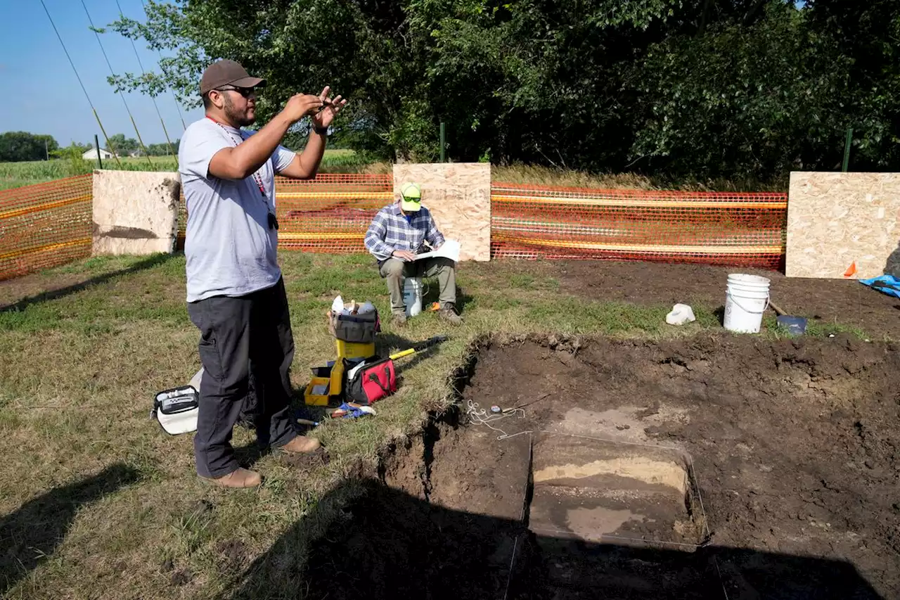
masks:
<instances>
[{"instance_id":1,"label":"patchy green and brown grass lawn around the standing man","mask_svg":"<svg viewBox=\"0 0 900 600\"><path fill-rule=\"evenodd\" d=\"M702 307L695 307L697 323L674 328L664 323L671 306L560 295L558 282L529 275L534 263L494 261L460 269L464 326L424 314L392 331L371 258L281 256L298 389L312 366L334 356L325 312L338 293L378 305L391 348L437 333L451 339L427 359L401 359L403 386L375 405L377 416L319 428L327 464L301 469L264 456L255 467L265 477L261 489L221 490L195 476L190 434L168 436L148 418L156 391L186 384L200 367L198 332L184 306L184 257L95 258L55 269L49 277L95 283L0 312L0 595L215 598L231 595L251 568L270 569L270 581L297 580L307 542L359 493L348 474L360 460L374 465L386 442L455 401L450 376L474 339L496 332L662 338L720 329ZM0 305L14 295L14 286L0 288ZM236 447L251 441L236 430ZM251 567L297 523L284 560ZM247 594L267 598L279 587Z\"/></svg>"}]
</instances>

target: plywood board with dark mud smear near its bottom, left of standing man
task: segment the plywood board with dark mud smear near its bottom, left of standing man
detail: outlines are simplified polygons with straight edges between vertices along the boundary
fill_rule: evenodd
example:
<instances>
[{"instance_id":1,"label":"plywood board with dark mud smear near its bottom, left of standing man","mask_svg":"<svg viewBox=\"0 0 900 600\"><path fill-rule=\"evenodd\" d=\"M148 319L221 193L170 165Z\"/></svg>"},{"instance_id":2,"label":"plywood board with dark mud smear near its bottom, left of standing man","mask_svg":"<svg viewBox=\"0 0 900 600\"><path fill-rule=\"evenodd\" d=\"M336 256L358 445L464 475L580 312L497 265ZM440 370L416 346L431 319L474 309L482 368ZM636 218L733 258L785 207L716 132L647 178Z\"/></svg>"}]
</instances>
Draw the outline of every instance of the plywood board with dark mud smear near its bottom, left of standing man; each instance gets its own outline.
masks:
<instances>
[{"instance_id":1,"label":"plywood board with dark mud smear near its bottom, left of standing man","mask_svg":"<svg viewBox=\"0 0 900 600\"><path fill-rule=\"evenodd\" d=\"M94 255L175 251L177 173L94 171Z\"/></svg>"}]
</instances>

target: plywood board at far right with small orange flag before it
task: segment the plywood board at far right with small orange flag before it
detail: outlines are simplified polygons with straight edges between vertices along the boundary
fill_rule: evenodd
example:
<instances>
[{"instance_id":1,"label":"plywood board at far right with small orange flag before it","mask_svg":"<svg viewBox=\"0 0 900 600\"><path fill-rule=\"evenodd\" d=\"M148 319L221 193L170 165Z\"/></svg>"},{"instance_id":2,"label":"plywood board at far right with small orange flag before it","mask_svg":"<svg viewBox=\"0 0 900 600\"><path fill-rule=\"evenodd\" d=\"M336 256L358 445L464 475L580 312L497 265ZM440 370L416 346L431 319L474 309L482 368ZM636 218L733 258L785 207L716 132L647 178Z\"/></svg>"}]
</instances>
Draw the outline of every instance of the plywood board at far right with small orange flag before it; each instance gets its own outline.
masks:
<instances>
[{"instance_id":1,"label":"plywood board at far right with small orange flag before it","mask_svg":"<svg viewBox=\"0 0 900 600\"><path fill-rule=\"evenodd\" d=\"M791 173L785 274L900 277L898 222L900 173Z\"/></svg>"}]
</instances>

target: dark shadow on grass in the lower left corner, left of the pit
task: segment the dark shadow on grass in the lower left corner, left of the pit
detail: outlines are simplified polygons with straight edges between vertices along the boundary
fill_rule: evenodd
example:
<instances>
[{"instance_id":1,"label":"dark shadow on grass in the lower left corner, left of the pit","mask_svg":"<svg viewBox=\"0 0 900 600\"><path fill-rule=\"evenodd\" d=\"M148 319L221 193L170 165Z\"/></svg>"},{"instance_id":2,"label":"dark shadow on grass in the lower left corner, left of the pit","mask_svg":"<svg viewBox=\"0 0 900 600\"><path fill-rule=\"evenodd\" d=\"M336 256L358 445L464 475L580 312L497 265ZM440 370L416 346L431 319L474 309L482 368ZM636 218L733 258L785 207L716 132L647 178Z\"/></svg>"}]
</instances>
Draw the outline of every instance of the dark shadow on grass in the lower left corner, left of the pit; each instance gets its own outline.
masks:
<instances>
[{"instance_id":1,"label":"dark shadow on grass in the lower left corner, left of the pit","mask_svg":"<svg viewBox=\"0 0 900 600\"><path fill-rule=\"evenodd\" d=\"M117 463L94 477L32 498L0 518L0 595L53 554L82 506L139 478L136 469Z\"/></svg>"}]
</instances>

